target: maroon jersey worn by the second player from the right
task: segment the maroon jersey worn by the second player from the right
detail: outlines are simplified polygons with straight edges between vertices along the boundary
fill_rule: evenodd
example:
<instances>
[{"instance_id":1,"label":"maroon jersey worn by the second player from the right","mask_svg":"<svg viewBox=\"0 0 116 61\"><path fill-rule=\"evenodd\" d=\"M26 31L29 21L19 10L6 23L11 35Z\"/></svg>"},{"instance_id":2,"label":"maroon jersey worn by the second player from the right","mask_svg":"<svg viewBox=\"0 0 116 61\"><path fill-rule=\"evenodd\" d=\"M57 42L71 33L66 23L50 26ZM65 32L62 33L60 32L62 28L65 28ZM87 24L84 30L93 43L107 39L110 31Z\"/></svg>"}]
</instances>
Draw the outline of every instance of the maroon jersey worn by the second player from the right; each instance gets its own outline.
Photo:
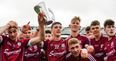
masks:
<instances>
[{"instance_id":1,"label":"maroon jersey worn by the second player from the right","mask_svg":"<svg viewBox=\"0 0 116 61\"><path fill-rule=\"evenodd\" d=\"M107 41L107 38L104 36L101 36L98 41L95 39L91 39L90 43L94 47L94 54L93 56L98 60L98 61L104 61L104 56L105 52L103 50L104 43Z\"/></svg>"}]
</instances>

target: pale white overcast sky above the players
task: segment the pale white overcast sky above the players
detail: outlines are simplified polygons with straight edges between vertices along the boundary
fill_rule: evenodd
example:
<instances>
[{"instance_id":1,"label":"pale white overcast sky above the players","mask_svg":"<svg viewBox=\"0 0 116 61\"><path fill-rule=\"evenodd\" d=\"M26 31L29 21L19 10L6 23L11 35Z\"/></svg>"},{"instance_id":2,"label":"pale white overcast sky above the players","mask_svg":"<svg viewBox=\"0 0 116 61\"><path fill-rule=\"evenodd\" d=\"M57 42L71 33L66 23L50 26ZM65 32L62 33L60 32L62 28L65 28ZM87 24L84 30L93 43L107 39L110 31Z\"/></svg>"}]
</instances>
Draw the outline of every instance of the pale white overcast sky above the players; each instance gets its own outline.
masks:
<instances>
[{"instance_id":1,"label":"pale white overcast sky above the players","mask_svg":"<svg viewBox=\"0 0 116 61\"><path fill-rule=\"evenodd\" d=\"M10 20L19 26L29 21L31 26L37 26L37 14L33 8L42 1L53 11L55 21L64 27L74 16L80 17L82 27L89 26L93 20L99 20L101 26L106 19L116 22L116 0L0 0L0 26Z\"/></svg>"}]
</instances>

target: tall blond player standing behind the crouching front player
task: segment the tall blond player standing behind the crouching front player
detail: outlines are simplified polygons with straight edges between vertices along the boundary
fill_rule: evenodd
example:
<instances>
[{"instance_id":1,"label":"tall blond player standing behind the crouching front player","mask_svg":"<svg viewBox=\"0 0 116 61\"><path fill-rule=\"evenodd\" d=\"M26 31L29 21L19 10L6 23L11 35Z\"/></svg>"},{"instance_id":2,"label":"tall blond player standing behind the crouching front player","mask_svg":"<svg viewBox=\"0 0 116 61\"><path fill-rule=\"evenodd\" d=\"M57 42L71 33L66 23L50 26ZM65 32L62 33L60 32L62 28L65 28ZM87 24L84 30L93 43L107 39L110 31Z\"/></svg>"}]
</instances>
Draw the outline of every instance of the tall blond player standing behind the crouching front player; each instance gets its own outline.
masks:
<instances>
[{"instance_id":1,"label":"tall blond player standing behind the crouching front player","mask_svg":"<svg viewBox=\"0 0 116 61\"><path fill-rule=\"evenodd\" d=\"M80 21L80 18L76 16L71 20L71 23L69 25L71 29L71 35L67 38L67 40L69 40L70 38L77 38L81 41L82 47L85 47L86 44L89 44L89 40L87 39L87 37L79 34Z\"/></svg>"}]
</instances>

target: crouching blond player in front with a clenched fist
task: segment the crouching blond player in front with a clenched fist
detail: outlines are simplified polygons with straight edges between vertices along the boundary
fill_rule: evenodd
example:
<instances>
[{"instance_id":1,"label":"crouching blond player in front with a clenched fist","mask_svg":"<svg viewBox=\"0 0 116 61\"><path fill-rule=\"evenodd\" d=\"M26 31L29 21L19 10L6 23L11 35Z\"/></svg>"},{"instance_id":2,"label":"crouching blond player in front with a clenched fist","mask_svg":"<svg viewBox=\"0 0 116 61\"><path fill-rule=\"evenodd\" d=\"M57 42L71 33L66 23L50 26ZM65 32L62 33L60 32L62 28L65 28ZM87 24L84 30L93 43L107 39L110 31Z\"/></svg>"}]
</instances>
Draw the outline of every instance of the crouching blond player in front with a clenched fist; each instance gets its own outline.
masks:
<instances>
[{"instance_id":1,"label":"crouching blond player in front with a clenched fist","mask_svg":"<svg viewBox=\"0 0 116 61\"><path fill-rule=\"evenodd\" d=\"M68 54L64 61L96 61L96 59L88 54L86 49L82 49L80 41L77 38L68 40L70 54Z\"/></svg>"}]
</instances>

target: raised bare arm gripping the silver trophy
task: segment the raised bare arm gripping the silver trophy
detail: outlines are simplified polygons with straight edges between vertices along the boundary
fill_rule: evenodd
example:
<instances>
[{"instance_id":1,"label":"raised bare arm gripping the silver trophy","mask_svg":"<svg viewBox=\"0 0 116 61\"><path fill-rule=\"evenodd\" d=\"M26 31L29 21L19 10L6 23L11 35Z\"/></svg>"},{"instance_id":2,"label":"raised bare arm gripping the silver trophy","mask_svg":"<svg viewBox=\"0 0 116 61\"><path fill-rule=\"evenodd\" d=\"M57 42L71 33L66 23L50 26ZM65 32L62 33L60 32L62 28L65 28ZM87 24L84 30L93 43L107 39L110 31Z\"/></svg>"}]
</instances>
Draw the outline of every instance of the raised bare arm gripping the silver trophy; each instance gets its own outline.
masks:
<instances>
[{"instance_id":1,"label":"raised bare arm gripping the silver trophy","mask_svg":"<svg viewBox=\"0 0 116 61\"><path fill-rule=\"evenodd\" d=\"M45 36L44 36L45 19L44 19L43 13L38 14L38 24L39 24L39 32L37 32L38 34L36 37L32 38L29 41L31 45L38 44L45 39Z\"/></svg>"}]
</instances>

